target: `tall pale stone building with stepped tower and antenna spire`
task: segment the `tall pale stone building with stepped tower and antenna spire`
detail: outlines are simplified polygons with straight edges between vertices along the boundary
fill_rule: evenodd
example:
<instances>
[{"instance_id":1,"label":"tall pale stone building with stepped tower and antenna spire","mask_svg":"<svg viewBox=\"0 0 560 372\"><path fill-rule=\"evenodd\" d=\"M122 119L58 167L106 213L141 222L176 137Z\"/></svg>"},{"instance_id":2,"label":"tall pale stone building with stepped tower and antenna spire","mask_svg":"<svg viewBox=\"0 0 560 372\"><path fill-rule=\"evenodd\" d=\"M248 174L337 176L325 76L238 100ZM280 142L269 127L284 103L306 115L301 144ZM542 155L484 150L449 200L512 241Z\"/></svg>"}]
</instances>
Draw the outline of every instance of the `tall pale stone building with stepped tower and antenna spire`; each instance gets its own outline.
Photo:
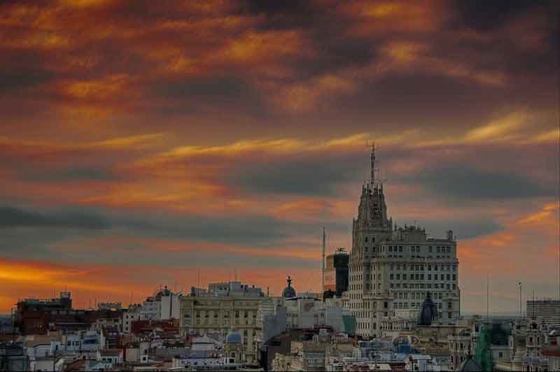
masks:
<instances>
[{"instance_id":1,"label":"tall pale stone building with stepped tower and antenna spire","mask_svg":"<svg viewBox=\"0 0 560 372\"><path fill-rule=\"evenodd\" d=\"M353 220L349 290L343 296L356 315L357 333L383 336L395 310L419 311L426 292L437 303L437 321L454 322L460 313L460 292L452 231L435 239L416 226L393 228L383 185L374 180L374 150L371 158L371 180L362 188Z\"/></svg>"}]
</instances>

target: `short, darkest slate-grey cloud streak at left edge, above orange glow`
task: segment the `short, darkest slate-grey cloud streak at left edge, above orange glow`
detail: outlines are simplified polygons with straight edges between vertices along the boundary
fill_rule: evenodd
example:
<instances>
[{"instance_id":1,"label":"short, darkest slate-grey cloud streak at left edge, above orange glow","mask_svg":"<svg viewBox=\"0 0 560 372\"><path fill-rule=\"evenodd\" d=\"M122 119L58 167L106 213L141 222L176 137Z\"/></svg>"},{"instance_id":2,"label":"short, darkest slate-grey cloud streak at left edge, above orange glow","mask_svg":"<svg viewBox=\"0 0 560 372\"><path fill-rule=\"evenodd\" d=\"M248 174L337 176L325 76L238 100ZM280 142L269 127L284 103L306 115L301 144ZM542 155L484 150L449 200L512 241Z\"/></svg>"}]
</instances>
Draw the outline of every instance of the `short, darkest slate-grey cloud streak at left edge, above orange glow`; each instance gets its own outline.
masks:
<instances>
[{"instance_id":1,"label":"short, darkest slate-grey cloud streak at left edge, above orange glow","mask_svg":"<svg viewBox=\"0 0 560 372\"><path fill-rule=\"evenodd\" d=\"M55 229L109 229L108 220L80 211L36 212L11 206L0 207L0 228L45 227Z\"/></svg>"}]
</instances>

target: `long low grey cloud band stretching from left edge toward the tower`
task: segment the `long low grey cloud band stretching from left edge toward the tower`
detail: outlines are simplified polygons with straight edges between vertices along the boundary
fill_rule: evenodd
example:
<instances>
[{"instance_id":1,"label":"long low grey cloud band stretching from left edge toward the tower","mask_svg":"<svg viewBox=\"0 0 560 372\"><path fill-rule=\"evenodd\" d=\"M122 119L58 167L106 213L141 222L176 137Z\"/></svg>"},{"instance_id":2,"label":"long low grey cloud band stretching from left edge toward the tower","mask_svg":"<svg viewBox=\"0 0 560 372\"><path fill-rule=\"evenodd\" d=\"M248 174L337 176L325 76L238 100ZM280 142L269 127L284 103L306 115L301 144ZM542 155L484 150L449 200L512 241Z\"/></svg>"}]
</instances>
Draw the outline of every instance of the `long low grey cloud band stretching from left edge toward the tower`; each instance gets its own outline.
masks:
<instances>
[{"instance_id":1,"label":"long low grey cloud band stretching from left edge toward the tower","mask_svg":"<svg viewBox=\"0 0 560 372\"><path fill-rule=\"evenodd\" d=\"M64 211L37 211L22 208L0 207L0 229L41 228L45 231L64 229L99 230L105 234L108 229L125 229L131 233L170 240L204 241L232 244L277 243L298 234L309 234L314 227L296 224L269 217L267 215L244 215L238 218L210 217L202 215L173 216L165 213L104 213L92 208L66 208ZM80 231L66 231L62 235L82 234ZM51 236L45 234L46 236ZM20 236L23 238L24 236ZM30 238L36 242L36 236ZM46 239L51 241L51 238ZM45 241L45 242L46 242Z\"/></svg>"}]
</instances>

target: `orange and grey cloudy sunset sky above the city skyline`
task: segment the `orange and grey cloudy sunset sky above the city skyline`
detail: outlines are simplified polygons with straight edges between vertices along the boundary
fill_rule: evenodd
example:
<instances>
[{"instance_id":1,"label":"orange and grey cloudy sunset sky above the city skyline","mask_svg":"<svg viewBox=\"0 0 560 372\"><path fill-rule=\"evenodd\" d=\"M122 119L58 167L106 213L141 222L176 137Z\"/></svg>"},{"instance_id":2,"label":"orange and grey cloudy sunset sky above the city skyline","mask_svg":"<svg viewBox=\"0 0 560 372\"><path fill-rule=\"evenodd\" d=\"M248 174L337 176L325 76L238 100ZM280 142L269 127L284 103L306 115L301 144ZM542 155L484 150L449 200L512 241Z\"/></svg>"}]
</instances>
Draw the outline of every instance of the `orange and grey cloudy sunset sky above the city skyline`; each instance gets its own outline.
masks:
<instances>
[{"instance_id":1,"label":"orange and grey cloudy sunset sky above the city skyline","mask_svg":"<svg viewBox=\"0 0 560 372\"><path fill-rule=\"evenodd\" d=\"M554 1L0 3L0 313L321 283L379 145L462 310L558 296Z\"/></svg>"}]
</instances>

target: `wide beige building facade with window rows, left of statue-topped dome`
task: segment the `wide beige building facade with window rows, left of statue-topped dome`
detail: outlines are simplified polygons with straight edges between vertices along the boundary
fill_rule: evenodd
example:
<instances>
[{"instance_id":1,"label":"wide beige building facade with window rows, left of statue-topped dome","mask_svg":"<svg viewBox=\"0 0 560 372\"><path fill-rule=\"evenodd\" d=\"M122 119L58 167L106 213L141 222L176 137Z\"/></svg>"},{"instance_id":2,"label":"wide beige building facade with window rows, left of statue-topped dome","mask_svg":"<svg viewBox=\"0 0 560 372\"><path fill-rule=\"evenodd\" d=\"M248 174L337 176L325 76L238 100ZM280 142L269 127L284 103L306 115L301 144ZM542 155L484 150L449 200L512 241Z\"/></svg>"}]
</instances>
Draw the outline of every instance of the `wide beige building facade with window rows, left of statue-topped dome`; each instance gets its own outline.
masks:
<instances>
[{"instance_id":1,"label":"wide beige building facade with window rows, left of statue-topped dome","mask_svg":"<svg viewBox=\"0 0 560 372\"><path fill-rule=\"evenodd\" d=\"M244 362L257 360L259 324L257 313L266 297L183 296L181 299L181 335L220 334L223 338L236 329L242 338Z\"/></svg>"}]
</instances>

